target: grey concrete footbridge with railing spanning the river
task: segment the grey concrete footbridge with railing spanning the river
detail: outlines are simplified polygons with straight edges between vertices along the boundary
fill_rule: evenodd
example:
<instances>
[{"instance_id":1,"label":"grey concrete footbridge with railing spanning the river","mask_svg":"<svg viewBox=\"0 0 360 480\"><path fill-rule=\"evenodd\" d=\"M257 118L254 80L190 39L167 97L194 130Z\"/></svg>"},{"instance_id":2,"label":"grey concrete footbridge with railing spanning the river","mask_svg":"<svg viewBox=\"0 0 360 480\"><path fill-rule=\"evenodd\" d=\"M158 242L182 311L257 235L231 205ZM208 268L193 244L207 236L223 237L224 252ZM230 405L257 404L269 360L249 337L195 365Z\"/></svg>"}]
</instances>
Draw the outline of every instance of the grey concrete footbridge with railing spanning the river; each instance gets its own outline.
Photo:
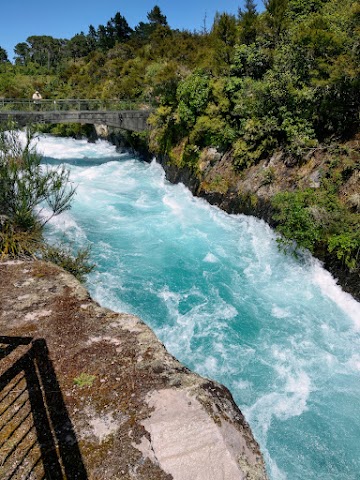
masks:
<instances>
[{"instance_id":1,"label":"grey concrete footbridge with railing spanning the river","mask_svg":"<svg viewBox=\"0 0 360 480\"><path fill-rule=\"evenodd\" d=\"M137 107L137 108L136 108ZM0 122L103 124L133 132L149 128L151 110L129 102L96 99L18 100L0 99Z\"/></svg>"}]
</instances>

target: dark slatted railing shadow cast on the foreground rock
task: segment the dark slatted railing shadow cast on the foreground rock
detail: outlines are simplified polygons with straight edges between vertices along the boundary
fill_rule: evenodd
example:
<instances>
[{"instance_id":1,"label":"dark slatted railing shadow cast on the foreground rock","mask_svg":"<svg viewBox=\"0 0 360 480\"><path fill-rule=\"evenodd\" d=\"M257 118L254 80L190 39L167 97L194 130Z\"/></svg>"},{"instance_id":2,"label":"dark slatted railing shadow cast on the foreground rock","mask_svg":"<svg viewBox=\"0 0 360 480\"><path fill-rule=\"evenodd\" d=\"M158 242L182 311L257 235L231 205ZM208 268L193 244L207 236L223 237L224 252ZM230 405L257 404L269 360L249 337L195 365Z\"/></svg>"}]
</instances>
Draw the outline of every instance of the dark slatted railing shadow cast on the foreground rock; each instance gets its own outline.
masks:
<instances>
[{"instance_id":1,"label":"dark slatted railing shadow cast on the foreground rock","mask_svg":"<svg viewBox=\"0 0 360 480\"><path fill-rule=\"evenodd\" d=\"M88 478L43 339L0 336L0 478Z\"/></svg>"}]
</instances>

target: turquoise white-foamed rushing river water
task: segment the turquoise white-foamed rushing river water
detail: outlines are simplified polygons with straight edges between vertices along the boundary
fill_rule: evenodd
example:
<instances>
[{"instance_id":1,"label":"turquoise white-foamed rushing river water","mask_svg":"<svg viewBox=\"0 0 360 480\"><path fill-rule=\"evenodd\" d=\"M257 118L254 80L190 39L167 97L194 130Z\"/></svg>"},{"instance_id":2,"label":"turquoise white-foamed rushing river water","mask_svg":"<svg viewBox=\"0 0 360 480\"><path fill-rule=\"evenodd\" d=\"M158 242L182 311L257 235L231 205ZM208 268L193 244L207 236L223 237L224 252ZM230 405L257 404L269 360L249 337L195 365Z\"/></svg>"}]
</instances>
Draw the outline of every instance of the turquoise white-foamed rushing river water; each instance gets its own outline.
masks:
<instances>
[{"instance_id":1,"label":"turquoise white-foamed rushing river water","mask_svg":"<svg viewBox=\"0 0 360 480\"><path fill-rule=\"evenodd\" d=\"M318 262L280 253L264 222L194 198L155 162L106 142L39 149L78 185L48 237L91 244L92 296L231 390L271 479L359 479L360 304Z\"/></svg>"}]
</instances>

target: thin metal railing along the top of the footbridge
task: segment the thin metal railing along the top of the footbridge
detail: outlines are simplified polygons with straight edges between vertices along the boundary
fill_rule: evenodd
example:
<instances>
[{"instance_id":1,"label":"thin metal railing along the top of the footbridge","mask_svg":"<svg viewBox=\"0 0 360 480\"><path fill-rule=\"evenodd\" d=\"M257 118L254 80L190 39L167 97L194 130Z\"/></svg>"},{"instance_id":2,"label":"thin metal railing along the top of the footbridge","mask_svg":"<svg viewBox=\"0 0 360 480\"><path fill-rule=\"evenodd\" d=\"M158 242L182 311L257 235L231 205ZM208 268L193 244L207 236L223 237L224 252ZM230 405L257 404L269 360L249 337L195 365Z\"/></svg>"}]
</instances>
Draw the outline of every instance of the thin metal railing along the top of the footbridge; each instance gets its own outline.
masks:
<instances>
[{"instance_id":1,"label":"thin metal railing along the top of the footbridge","mask_svg":"<svg viewBox=\"0 0 360 480\"><path fill-rule=\"evenodd\" d=\"M99 100L99 99L17 99L0 98L0 111L80 111L80 110L137 110L139 103L129 100Z\"/></svg>"}]
</instances>

